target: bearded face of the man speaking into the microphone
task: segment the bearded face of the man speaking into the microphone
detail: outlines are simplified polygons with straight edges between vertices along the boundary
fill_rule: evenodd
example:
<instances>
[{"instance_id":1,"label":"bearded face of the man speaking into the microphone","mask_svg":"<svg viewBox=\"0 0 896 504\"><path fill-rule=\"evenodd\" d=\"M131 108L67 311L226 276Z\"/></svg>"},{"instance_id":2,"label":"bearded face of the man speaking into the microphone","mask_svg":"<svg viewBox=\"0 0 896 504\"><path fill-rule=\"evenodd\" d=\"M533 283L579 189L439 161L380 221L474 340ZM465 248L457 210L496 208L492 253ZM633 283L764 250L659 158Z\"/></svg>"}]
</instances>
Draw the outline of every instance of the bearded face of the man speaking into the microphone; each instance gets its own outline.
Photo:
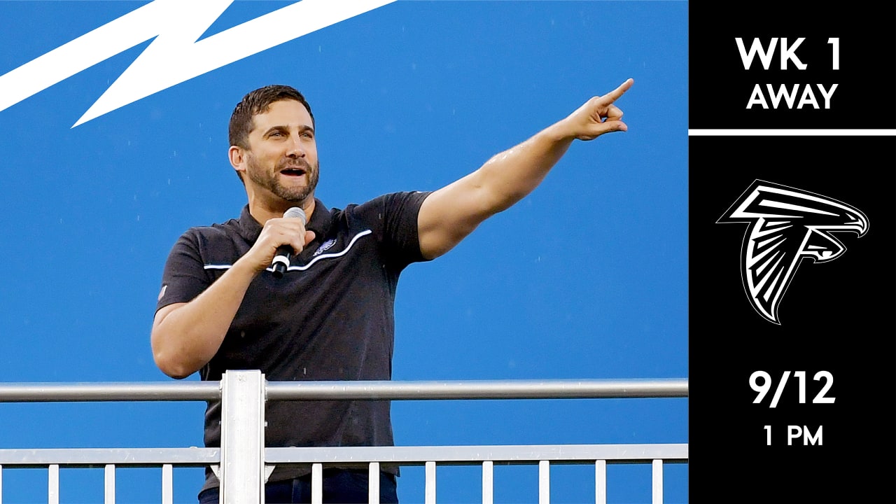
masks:
<instances>
[{"instance_id":1,"label":"bearded face of the man speaking into the microphone","mask_svg":"<svg viewBox=\"0 0 896 504\"><path fill-rule=\"evenodd\" d=\"M314 196L320 166L314 126L304 105L280 100L253 118L246 150L246 184L290 203Z\"/></svg>"}]
</instances>

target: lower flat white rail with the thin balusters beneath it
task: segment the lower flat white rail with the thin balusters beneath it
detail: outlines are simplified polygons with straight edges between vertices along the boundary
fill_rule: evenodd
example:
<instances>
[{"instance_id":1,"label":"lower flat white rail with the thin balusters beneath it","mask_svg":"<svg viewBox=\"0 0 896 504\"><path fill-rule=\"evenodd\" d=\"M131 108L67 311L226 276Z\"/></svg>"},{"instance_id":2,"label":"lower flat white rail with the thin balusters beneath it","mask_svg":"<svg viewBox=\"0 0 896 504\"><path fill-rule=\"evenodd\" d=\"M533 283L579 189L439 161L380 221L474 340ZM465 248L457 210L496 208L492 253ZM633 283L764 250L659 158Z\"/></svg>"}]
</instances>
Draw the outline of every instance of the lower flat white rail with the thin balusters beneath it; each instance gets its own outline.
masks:
<instances>
[{"instance_id":1,"label":"lower flat white rail with the thin balusters beneath it","mask_svg":"<svg viewBox=\"0 0 896 504\"><path fill-rule=\"evenodd\" d=\"M47 502L59 503L59 471L62 467L103 467L105 502L115 503L116 469L119 467L162 468L161 501L173 504L173 468L220 464L218 448L40 448L0 449L0 484L4 469L46 468ZM265 448L264 465L310 465L312 502L322 502L323 468L357 465L367 468L368 501L379 502L381 465L422 465L426 468L426 504L435 504L436 466L478 465L482 468L482 502L493 504L495 465L538 465L538 502L550 502L552 465L593 465L596 504L607 504L607 465L649 464L652 467L652 502L663 501L663 465L686 464L687 444L654 445L499 445L431 447L336 447ZM217 474L217 473L216 473ZM270 474L270 471L266 472ZM232 502L245 502L245 497ZM0 496L2 502L2 496Z\"/></svg>"}]
</instances>

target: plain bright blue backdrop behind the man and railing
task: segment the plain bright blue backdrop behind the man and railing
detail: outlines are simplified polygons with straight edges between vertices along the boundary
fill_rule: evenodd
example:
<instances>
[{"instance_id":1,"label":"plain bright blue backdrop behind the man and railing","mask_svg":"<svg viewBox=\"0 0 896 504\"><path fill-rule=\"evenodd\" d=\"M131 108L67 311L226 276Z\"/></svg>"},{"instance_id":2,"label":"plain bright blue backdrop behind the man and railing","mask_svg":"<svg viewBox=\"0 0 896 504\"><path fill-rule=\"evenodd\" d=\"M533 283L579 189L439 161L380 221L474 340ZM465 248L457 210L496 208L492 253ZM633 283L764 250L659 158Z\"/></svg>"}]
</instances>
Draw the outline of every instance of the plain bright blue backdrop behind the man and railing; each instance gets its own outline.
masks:
<instances>
[{"instance_id":1,"label":"plain bright blue backdrop behind the man and railing","mask_svg":"<svg viewBox=\"0 0 896 504\"><path fill-rule=\"evenodd\" d=\"M0 1L0 74L145 2ZM207 34L287 2L237 1ZM317 196L343 207L443 187L635 80L625 134L576 142L545 182L460 246L402 275L398 380L687 378L687 19L683 1L410 1L226 65L72 128L143 43L0 111L0 382L171 381L149 334L168 250L236 217L237 101L306 94ZM198 379L193 376L187 379ZM0 448L202 444L202 403L0 404ZM682 443L687 399L395 402L399 445ZM423 500L423 469L400 479ZM593 501L593 467L551 470L556 502ZM119 502L159 501L160 471L119 469ZM538 498L537 466L495 468L495 501ZM478 467L438 473L440 502L480 499ZM102 498L63 470L62 501ZM46 471L5 470L4 502L46 501ZM175 471L194 502L201 470ZM667 502L687 466L666 467ZM650 466L611 466L611 502L649 502Z\"/></svg>"}]
</instances>

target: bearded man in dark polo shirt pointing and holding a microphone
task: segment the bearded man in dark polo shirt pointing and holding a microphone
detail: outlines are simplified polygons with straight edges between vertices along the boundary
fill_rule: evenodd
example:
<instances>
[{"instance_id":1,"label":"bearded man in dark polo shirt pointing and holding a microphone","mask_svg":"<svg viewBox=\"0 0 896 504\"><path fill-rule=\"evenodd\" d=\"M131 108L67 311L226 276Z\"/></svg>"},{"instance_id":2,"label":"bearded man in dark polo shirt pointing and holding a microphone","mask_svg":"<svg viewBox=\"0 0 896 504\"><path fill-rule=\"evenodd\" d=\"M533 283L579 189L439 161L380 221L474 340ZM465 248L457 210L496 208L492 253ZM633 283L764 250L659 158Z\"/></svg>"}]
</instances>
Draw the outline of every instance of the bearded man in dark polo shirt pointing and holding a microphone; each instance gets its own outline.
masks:
<instances>
[{"instance_id":1,"label":"bearded man in dark polo shirt pointing and holding a microphone","mask_svg":"<svg viewBox=\"0 0 896 504\"><path fill-rule=\"evenodd\" d=\"M301 93L266 86L230 118L229 160L248 204L238 219L187 230L171 249L152 325L156 364L173 378L261 369L266 379L392 378L393 302L409 264L441 256L489 216L528 195L573 140L625 131L614 102L581 108L470 175L434 192L392 193L344 209L314 197L319 176L314 116ZM302 218L284 217L290 207ZM278 248L294 250L278 277ZM388 401L273 401L269 447L391 446ZM205 444L220 446L220 402L205 413ZM267 502L310 500L307 470L277 467ZM381 502L397 502L397 467L383 467ZM366 502L366 471L324 472L324 501ZM201 502L218 501L211 470Z\"/></svg>"}]
</instances>

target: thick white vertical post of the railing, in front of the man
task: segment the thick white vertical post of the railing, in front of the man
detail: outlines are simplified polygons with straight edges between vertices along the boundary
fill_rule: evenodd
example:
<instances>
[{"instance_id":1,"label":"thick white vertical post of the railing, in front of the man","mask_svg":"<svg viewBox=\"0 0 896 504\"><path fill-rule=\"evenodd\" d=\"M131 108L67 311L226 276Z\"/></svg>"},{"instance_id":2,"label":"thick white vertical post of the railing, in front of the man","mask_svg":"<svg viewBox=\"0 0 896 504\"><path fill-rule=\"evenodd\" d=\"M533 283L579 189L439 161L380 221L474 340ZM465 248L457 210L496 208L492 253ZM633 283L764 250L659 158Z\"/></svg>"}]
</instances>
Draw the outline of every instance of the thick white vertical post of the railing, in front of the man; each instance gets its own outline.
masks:
<instances>
[{"instance_id":1,"label":"thick white vertical post of the railing, in front of the man","mask_svg":"<svg viewBox=\"0 0 896 504\"><path fill-rule=\"evenodd\" d=\"M221 377L222 504L264 503L264 400L261 371Z\"/></svg>"}]
</instances>

